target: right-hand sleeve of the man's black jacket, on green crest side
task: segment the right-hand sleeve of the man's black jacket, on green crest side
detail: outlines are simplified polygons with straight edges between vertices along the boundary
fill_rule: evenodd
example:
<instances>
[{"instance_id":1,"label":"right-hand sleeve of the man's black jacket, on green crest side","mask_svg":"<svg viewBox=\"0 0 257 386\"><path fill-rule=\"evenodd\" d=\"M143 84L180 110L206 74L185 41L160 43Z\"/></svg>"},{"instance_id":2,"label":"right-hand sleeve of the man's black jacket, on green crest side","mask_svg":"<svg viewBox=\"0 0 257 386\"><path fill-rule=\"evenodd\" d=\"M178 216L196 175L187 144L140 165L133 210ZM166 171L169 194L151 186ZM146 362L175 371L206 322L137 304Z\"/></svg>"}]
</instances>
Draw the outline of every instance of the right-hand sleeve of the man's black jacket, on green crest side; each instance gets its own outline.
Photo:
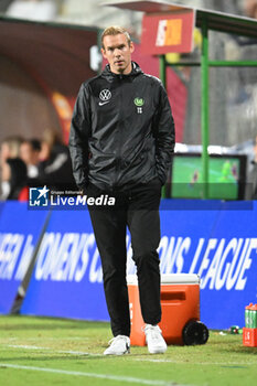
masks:
<instances>
[{"instance_id":1,"label":"right-hand sleeve of the man's black jacket, on green crest side","mask_svg":"<svg viewBox=\"0 0 257 386\"><path fill-rule=\"evenodd\" d=\"M167 92L160 83L159 104L154 121L154 137L157 146L157 172L162 184L171 165L175 146L174 119L172 116Z\"/></svg>"}]
</instances>

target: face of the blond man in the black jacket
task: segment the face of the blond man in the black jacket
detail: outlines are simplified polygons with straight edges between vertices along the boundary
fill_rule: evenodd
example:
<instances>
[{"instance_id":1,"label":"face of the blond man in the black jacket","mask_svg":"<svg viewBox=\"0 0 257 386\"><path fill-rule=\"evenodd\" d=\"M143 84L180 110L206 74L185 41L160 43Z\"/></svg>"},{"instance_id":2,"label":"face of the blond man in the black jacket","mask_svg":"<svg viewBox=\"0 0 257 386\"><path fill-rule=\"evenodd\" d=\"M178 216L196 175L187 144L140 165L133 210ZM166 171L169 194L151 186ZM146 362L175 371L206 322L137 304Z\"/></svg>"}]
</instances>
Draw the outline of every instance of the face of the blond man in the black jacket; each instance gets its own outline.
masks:
<instances>
[{"instance_id":1,"label":"face of the blond man in the black jacket","mask_svg":"<svg viewBox=\"0 0 257 386\"><path fill-rule=\"evenodd\" d=\"M133 43L128 44L127 37L119 33L118 35L106 35L104 37L103 56L108 61L110 71L115 74L131 73L131 53Z\"/></svg>"}]
</instances>

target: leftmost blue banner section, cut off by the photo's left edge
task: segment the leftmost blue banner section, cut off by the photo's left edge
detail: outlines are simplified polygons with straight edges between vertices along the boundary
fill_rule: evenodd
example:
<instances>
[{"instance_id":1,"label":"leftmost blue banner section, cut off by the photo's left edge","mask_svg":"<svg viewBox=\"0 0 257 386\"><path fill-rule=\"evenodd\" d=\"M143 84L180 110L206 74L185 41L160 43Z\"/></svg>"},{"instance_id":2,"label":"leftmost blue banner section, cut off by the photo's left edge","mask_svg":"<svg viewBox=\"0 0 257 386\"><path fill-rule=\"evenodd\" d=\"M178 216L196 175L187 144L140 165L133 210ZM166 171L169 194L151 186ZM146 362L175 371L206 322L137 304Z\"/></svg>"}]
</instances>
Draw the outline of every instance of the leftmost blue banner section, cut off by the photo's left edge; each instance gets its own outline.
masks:
<instances>
[{"instance_id":1,"label":"leftmost blue banner section, cut off by the photo's left edge","mask_svg":"<svg viewBox=\"0 0 257 386\"><path fill-rule=\"evenodd\" d=\"M15 201L0 210L0 313L9 313L47 213L28 211L26 203Z\"/></svg>"}]
</instances>

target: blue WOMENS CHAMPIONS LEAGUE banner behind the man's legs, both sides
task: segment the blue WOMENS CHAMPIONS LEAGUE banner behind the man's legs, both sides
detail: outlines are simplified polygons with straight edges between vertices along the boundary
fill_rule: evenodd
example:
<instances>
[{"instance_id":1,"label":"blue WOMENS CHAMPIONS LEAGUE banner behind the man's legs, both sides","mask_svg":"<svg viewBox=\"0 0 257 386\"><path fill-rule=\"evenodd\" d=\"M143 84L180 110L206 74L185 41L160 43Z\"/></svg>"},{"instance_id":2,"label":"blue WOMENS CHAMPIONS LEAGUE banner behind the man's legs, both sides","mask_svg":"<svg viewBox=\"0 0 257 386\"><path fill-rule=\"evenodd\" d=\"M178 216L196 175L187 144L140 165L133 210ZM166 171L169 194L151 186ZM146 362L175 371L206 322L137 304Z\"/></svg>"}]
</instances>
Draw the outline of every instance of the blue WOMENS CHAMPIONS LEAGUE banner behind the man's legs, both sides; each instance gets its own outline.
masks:
<instances>
[{"instance_id":1,"label":"blue WOMENS CHAMPIONS LEAGUE banner behind the man's legs, both sides","mask_svg":"<svg viewBox=\"0 0 257 386\"><path fill-rule=\"evenodd\" d=\"M201 276L201 320L244 325L257 302L257 202L163 200L162 274ZM127 236L128 274L135 274ZM21 310L25 314L108 320L99 254L87 211L54 211Z\"/></svg>"}]
</instances>

